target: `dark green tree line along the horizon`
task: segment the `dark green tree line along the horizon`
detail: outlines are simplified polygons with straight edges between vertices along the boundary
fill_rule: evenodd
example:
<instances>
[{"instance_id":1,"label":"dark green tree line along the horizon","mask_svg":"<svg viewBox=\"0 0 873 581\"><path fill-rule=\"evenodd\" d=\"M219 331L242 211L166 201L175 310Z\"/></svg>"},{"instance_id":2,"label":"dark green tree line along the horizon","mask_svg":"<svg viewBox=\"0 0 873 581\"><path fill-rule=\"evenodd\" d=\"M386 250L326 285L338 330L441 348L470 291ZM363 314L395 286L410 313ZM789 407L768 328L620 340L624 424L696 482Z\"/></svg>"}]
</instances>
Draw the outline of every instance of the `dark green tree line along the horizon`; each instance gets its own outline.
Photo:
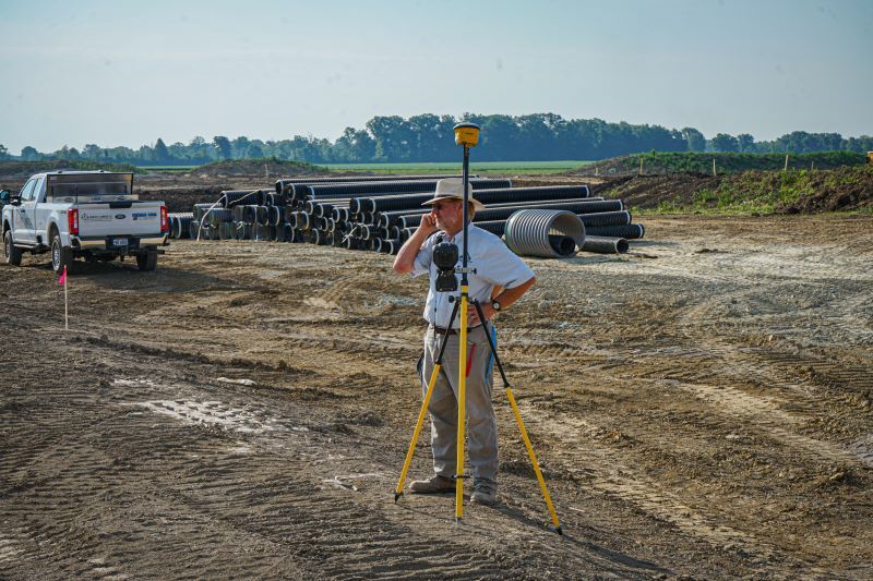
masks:
<instances>
[{"instance_id":1,"label":"dark green tree line along the horizon","mask_svg":"<svg viewBox=\"0 0 873 581\"><path fill-rule=\"evenodd\" d=\"M748 134L718 133L707 138L694 128L609 123L600 119L563 119L554 113L527 116L465 114L461 119L431 113L404 119L374 117L363 129L346 128L335 141L295 135L290 140L262 141L216 135L212 141L194 137L190 143L101 147L82 149L64 145L41 153L26 146L19 156L0 145L0 159L38 161L92 160L137 166L193 166L223 159L271 157L310 164L456 161L452 128L471 121L482 128L477 161L598 160L644 152L716 152L748 154L805 154L815 152L873 150L873 137L844 137L839 133L794 131L774 141L757 142Z\"/></svg>"}]
</instances>

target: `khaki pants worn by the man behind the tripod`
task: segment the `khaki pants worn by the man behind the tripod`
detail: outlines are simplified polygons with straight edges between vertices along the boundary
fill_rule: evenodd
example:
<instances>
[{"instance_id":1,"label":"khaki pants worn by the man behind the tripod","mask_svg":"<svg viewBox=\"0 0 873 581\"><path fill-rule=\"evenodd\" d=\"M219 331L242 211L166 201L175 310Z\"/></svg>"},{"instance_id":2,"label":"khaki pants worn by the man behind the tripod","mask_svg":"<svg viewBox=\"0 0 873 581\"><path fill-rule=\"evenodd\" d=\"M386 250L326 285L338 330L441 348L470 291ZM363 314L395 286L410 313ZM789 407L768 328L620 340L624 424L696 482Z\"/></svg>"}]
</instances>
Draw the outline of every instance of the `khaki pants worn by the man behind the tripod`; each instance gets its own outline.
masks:
<instances>
[{"instance_id":1,"label":"khaki pants worn by the man behind the tripod","mask_svg":"<svg viewBox=\"0 0 873 581\"><path fill-rule=\"evenodd\" d=\"M488 329L492 327L489 325ZM421 374L422 395L433 365L440 354L443 336L433 327L424 335L424 354ZM436 474L451 479L457 464L457 380L459 335L449 335L449 344L443 354L440 375L433 386L433 395L428 406L431 417L431 446L433 470ZM466 427L467 458L473 468L474 484L491 491L497 489L498 473L498 424L491 404L493 373L491 349L488 346L486 326L467 332L467 362L469 375L466 382Z\"/></svg>"}]
</instances>

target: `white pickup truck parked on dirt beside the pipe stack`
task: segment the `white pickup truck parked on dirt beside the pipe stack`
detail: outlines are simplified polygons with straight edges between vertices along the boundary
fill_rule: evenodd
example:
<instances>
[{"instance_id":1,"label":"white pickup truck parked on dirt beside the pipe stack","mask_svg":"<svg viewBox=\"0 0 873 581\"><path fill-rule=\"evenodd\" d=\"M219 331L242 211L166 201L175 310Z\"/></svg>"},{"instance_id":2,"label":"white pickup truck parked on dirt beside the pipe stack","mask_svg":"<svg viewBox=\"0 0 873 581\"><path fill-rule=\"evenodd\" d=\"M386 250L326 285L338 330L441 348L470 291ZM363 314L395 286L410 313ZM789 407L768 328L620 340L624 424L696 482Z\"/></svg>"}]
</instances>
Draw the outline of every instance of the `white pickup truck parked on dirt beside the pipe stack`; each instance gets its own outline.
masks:
<instances>
[{"instance_id":1,"label":"white pickup truck parked on dirt beside the pipe stack","mask_svg":"<svg viewBox=\"0 0 873 581\"><path fill-rule=\"evenodd\" d=\"M169 233L164 203L137 199L132 173L107 171L37 173L3 206L2 227L7 264L51 251L59 276L79 257L135 256L141 270L154 270Z\"/></svg>"}]
</instances>

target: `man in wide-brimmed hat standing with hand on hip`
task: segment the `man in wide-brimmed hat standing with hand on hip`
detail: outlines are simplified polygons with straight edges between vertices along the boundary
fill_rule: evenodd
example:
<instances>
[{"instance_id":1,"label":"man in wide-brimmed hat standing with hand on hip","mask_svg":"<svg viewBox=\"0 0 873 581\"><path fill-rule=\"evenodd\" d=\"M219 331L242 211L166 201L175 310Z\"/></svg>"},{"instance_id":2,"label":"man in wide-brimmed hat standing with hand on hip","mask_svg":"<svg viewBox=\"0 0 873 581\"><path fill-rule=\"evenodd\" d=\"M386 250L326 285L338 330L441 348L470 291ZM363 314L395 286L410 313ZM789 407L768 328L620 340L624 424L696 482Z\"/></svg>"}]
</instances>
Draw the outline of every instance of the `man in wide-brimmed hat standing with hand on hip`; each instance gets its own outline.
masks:
<instances>
[{"instance_id":1,"label":"man in wide-brimmed hat standing with hand on hip","mask_svg":"<svg viewBox=\"0 0 873 581\"><path fill-rule=\"evenodd\" d=\"M432 211L421 218L415 233L406 241L394 261L394 271L411 274L414 277L430 275L430 289L424 304L428 330L424 335L422 390L440 353L440 342L449 341L443 355L440 376L433 387L428 411L431 415L431 445L433 470L429 480L415 481L409 489L419 494L435 494L455 488L457 463L457 380L458 380L458 329L459 315L449 320L456 293L436 292L436 266L433 264L433 246L442 241L464 249L464 185L461 179L450 178L436 182L432 199L422 205L432 206ZM468 196L468 218L485 206ZM442 231L442 233L436 233ZM534 286L534 271L494 234L475 225L468 225L467 244L469 308L467 315L466 410L468 426L469 462L473 468L473 503L493 505L497 501L498 433L494 409L491 406L492 365L491 350L486 332L493 334L488 323L497 313L505 311ZM461 259L458 259L461 264ZM459 275L456 275L459 279ZM495 289L499 290L493 294ZM502 290L501 290L502 289ZM457 298L456 298L457 299ZM459 299L457 299L459 300ZM473 305L478 300L482 305L485 322ZM444 338L444 339L443 339Z\"/></svg>"}]
</instances>

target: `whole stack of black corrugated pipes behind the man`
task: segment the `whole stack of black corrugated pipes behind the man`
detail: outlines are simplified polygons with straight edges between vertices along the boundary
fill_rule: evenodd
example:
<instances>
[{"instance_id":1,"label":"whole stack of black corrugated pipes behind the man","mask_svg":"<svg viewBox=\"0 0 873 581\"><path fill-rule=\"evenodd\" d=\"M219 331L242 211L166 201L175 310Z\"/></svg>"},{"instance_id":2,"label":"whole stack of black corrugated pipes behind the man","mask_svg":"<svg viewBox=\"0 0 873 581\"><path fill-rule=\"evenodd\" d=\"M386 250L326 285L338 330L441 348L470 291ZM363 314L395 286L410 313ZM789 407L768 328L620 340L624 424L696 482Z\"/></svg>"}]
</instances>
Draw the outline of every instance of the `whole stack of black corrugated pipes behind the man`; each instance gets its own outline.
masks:
<instances>
[{"instance_id":1,"label":"whole stack of black corrugated pipes behind the man","mask_svg":"<svg viewBox=\"0 0 873 581\"><path fill-rule=\"evenodd\" d=\"M200 230L201 240L309 242L394 254L430 211L421 204L433 197L442 177L419 178L279 180L275 191L223 192L215 204L194 206L191 237ZM511 187L509 180L478 178L470 183L487 206L474 222L498 235L513 214L530 209L578 216L586 251L624 252L626 240L645 233L642 225L631 223L622 201L590 197L586 185Z\"/></svg>"}]
</instances>

